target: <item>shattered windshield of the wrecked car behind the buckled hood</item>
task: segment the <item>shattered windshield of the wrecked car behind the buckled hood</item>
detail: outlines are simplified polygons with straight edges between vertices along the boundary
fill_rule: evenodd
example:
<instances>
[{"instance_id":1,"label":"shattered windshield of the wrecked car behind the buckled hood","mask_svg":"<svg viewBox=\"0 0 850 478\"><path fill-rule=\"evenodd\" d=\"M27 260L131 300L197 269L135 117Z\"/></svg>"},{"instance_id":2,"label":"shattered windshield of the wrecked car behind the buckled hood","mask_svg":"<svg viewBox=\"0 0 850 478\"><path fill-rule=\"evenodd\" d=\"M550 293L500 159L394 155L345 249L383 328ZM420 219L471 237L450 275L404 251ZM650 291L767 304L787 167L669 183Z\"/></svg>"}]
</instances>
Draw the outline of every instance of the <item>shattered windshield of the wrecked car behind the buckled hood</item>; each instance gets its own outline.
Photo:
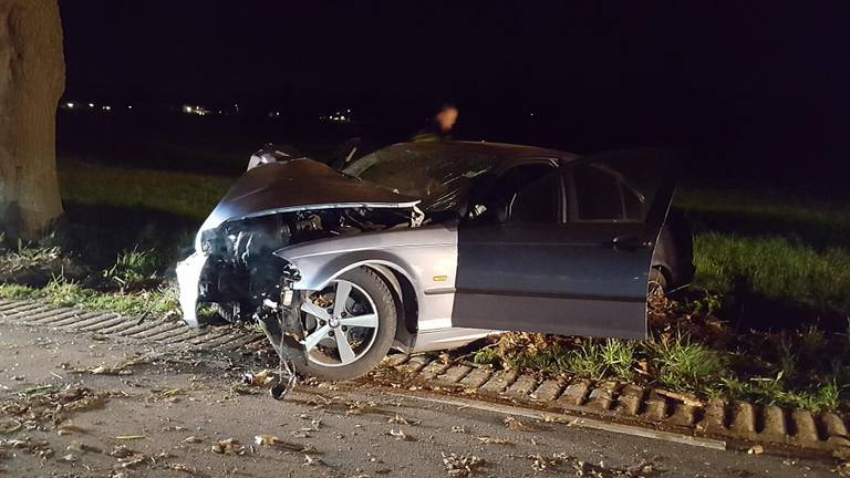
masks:
<instances>
[{"instance_id":1,"label":"shattered windshield of the wrecked car behind the buckled hood","mask_svg":"<svg viewBox=\"0 0 850 478\"><path fill-rule=\"evenodd\" d=\"M363 156L343 170L405 196L422 199L427 211L457 208L471 178L489 170L493 154L462 145L400 144Z\"/></svg>"}]
</instances>

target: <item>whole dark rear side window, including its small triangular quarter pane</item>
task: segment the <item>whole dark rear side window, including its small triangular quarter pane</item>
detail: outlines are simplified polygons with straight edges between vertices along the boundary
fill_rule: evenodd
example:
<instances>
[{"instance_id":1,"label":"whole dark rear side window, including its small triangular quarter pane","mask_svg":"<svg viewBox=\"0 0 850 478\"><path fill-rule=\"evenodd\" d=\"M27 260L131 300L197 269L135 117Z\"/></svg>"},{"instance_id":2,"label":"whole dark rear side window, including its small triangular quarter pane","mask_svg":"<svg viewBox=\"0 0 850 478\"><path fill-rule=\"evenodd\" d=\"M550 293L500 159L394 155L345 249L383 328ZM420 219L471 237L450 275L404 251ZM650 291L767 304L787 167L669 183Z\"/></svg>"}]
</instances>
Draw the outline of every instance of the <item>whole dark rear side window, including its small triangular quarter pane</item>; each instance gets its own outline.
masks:
<instances>
[{"instance_id":1,"label":"whole dark rear side window, including its small triangular quarter pane","mask_svg":"<svg viewBox=\"0 0 850 478\"><path fill-rule=\"evenodd\" d=\"M619 175L595 165L572 170L576 209L573 220L579 221L641 221L644 202Z\"/></svg>"}]
</instances>

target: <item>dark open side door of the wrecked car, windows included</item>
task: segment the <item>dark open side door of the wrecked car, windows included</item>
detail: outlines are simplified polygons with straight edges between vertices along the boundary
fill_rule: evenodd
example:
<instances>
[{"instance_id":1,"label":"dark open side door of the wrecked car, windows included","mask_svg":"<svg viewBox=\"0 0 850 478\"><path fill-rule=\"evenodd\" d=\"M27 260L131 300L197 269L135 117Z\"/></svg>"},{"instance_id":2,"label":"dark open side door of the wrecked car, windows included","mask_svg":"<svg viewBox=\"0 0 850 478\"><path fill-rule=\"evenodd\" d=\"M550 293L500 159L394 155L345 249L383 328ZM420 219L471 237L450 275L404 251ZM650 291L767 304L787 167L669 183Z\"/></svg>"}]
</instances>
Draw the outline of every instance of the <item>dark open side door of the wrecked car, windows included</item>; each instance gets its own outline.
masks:
<instances>
[{"instance_id":1,"label":"dark open side door of the wrecked car, windows included","mask_svg":"<svg viewBox=\"0 0 850 478\"><path fill-rule=\"evenodd\" d=\"M580 159L509 193L504 217L462 224L453 326L645 337L668 172L646 153Z\"/></svg>"}]
</instances>

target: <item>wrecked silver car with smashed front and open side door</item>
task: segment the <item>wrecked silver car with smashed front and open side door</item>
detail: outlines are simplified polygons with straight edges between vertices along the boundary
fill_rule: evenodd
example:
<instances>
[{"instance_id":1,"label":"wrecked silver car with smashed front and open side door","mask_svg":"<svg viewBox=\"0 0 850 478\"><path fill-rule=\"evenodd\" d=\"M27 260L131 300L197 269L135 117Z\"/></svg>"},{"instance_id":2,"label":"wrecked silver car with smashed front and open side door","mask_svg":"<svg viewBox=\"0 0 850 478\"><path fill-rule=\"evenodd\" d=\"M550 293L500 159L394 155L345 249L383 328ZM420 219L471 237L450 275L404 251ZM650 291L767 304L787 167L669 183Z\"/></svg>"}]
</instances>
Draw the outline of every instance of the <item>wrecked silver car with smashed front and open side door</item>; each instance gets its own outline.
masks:
<instances>
[{"instance_id":1,"label":"wrecked silver car with smashed front and open side door","mask_svg":"<svg viewBox=\"0 0 850 478\"><path fill-rule=\"evenodd\" d=\"M257 321L329 380L496 331L642 339L647 285L694 271L667 173L653 152L494 143L397 144L341 172L256 157L177 267L184 318Z\"/></svg>"}]
</instances>

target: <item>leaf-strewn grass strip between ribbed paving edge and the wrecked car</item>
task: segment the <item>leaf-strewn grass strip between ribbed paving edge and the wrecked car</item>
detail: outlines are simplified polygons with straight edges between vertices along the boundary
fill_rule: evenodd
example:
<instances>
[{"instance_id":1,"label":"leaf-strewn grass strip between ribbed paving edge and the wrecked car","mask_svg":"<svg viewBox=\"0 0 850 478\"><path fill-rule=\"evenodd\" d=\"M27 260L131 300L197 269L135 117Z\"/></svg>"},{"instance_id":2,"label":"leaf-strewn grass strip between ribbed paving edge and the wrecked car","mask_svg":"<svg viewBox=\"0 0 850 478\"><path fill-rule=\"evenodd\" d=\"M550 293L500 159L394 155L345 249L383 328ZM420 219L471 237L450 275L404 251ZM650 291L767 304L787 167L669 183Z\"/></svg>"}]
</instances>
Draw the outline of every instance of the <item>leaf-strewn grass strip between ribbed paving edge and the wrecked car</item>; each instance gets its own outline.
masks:
<instances>
[{"instance_id":1,"label":"leaf-strewn grass strip between ribbed paving edge and the wrecked car","mask_svg":"<svg viewBox=\"0 0 850 478\"><path fill-rule=\"evenodd\" d=\"M788 337L777 336L771 336L774 345L744 342L729 350L697 343L683 333L644 342L525 337L528 334L505 335L499 341L511 342L508 347L483 349L474 361L545 375L638 382L702 398L749 399L812 412L850 409L850 357L840 351L830 353L840 358L828 363L807 356L815 350L823 354L848 346L846 337L836 343L827 340L810 351L800 343L788 347ZM543 341L549 345L535 345ZM788 350L795 351L792 370L787 368L788 362L770 362L770 355L781 357ZM758 370L751 370L753 363L759 364Z\"/></svg>"}]
</instances>

